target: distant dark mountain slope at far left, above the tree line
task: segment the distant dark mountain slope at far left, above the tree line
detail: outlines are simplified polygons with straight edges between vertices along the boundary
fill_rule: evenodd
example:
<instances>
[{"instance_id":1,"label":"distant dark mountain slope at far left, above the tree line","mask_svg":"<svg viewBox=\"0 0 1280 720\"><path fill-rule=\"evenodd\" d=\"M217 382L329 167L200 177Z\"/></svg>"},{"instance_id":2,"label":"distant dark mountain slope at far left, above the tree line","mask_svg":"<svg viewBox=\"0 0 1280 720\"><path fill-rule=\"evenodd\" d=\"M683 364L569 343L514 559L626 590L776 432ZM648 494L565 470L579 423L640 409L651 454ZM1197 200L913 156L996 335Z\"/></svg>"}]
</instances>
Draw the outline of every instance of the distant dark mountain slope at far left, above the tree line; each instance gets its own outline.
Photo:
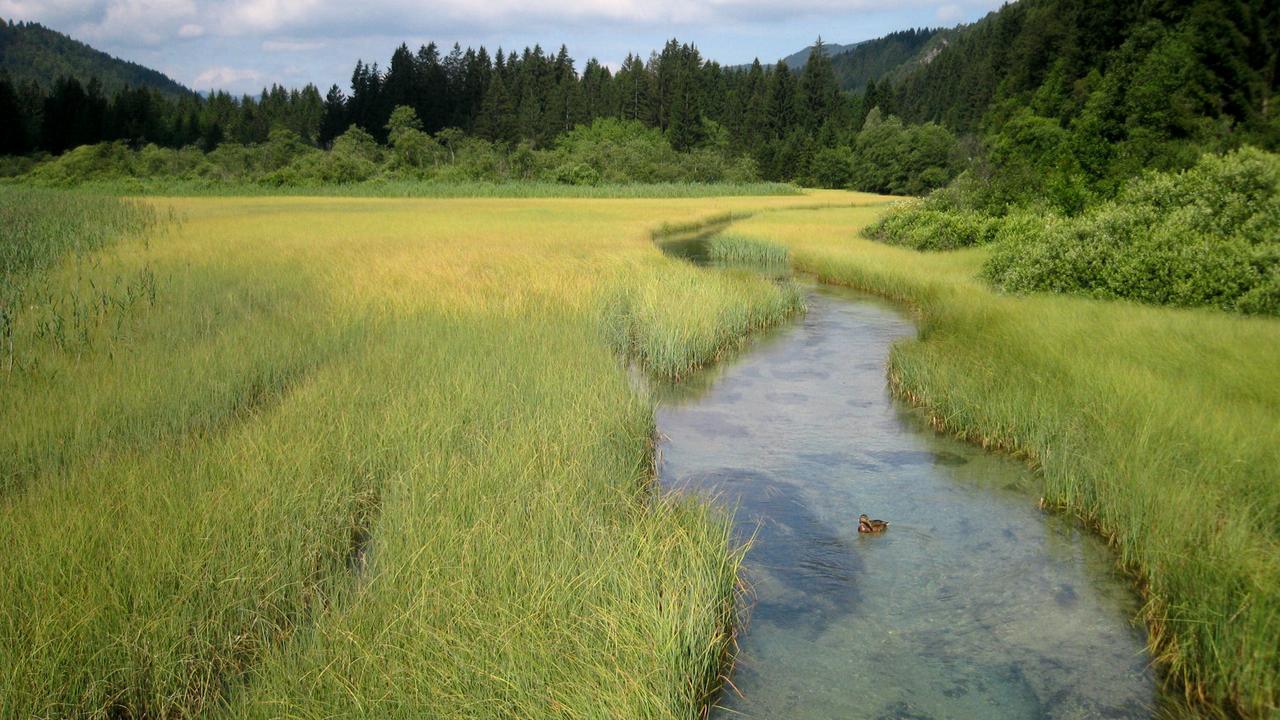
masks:
<instances>
[{"instance_id":1,"label":"distant dark mountain slope at far left, above the tree line","mask_svg":"<svg viewBox=\"0 0 1280 720\"><path fill-rule=\"evenodd\" d=\"M46 90L59 77L88 82L96 77L102 91L113 95L124 86L150 87L164 95L191 95L164 73L113 58L40 23L15 23L0 18L0 70L15 83L36 81Z\"/></svg>"}]
</instances>

